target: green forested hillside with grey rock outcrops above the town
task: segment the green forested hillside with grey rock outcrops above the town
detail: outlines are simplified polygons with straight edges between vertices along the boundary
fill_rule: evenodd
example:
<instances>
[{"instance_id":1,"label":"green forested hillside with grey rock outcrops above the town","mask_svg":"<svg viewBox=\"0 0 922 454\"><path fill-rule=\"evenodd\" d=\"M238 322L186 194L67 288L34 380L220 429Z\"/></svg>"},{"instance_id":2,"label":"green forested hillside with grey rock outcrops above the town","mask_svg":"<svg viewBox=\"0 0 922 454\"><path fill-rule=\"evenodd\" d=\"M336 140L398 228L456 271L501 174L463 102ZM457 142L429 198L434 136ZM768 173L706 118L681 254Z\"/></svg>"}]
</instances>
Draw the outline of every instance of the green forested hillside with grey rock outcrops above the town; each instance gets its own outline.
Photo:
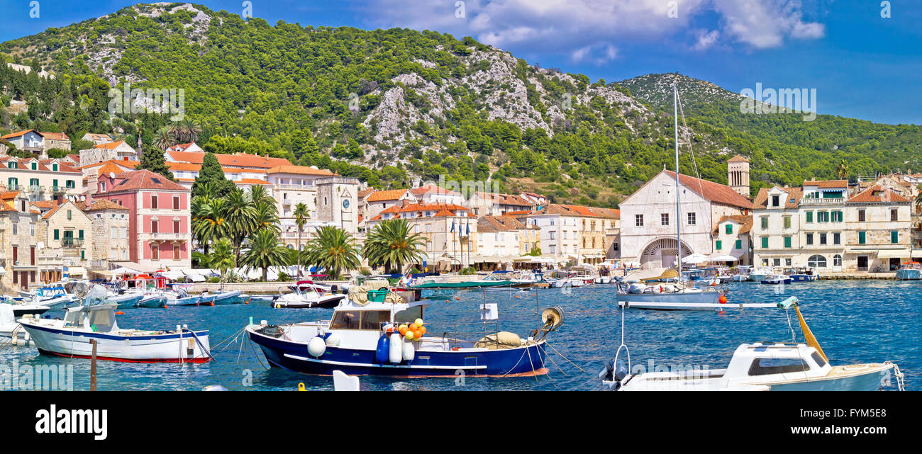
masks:
<instances>
[{"instance_id":1,"label":"green forested hillside with grey rock outcrops above the town","mask_svg":"<svg viewBox=\"0 0 922 454\"><path fill-rule=\"evenodd\" d=\"M183 88L206 149L288 157L380 188L492 178L557 202L614 206L672 158L662 86L673 75L592 82L435 31L272 26L156 4L7 41L0 52L54 75L0 70L0 128L112 132L129 143L140 128L150 149L162 146L169 120L111 116L106 91ZM726 90L684 77L680 87L703 178L726 181L738 153L751 157L759 184L832 177L842 160L854 173L915 164L916 126L744 115ZM691 157L682 170L693 173Z\"/></svg>"}]
</instances>

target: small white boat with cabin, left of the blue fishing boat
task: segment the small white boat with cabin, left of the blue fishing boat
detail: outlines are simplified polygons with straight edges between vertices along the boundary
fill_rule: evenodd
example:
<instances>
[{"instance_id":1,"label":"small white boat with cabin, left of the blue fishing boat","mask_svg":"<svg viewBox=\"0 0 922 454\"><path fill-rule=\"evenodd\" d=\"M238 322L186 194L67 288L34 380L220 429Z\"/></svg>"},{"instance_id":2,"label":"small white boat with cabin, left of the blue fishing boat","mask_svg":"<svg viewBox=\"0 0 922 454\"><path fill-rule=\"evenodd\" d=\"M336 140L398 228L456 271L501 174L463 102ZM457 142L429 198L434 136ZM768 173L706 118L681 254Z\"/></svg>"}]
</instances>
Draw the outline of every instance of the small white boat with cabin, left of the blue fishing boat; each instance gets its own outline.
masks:
<instances>
[{"instance_id":1,"label":"small white boat with cabin, left of the blue fishing boat","mask_svg":"<svg viewBox=\"0 0 922 454\"><path fill-rule=\"evenodd\" d=\"M83 306L68 308L64 320L19 319L39 352L47 355L89 358L96 341L96 357L132 363L205 363L211 359L207 331L191 331L176 325L175 330L129 330L119 328L114 304L98 304L105 290L97 285L99 296L87 297Z\"/></svg>"}]
</instances>

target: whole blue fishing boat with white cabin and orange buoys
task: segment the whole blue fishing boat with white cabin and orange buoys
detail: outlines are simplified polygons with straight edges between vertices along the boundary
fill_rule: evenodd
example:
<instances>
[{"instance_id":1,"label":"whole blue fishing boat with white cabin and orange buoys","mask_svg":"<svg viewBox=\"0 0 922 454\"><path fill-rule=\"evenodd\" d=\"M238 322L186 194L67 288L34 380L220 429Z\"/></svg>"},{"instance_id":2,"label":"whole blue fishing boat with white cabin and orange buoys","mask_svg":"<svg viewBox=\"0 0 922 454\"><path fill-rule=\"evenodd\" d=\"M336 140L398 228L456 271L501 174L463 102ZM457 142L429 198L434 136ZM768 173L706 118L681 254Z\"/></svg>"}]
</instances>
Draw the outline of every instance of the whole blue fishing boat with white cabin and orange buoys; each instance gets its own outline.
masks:
<instances>
[{"instance_id":1,"label":"whole blue fishing boat with white cabin and orange buoys","mask_svg":"<svg viewBox=\"0 0 922 454\"><path fill-rule=\"evenodd\" d=\"M245 330L270 365L311 375L332 375L334 370L400 378L455 377L458 371L466 377L548 372L544 337L560 326L560 308L546 309L544 324L526 339L498 331L489 321L468 324L467 334L456 325L443 337L430 337L421 328L428 305L426 300L361 304L350 298L331 320L287 325L264 321ZM417 338L419 332L423 335Z\"/></svg>"}]
</instances>

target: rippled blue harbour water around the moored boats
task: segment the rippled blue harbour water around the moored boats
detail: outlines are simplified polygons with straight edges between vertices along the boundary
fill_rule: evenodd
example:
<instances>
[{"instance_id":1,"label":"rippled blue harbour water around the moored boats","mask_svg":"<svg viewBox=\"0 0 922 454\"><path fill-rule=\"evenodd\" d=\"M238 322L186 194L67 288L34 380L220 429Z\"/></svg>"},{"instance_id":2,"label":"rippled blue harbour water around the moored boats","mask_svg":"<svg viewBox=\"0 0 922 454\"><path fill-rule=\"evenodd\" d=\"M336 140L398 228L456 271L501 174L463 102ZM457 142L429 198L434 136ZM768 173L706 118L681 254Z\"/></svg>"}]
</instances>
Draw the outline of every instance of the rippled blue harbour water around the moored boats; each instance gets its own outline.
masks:
<instances>
[{"instance_id":1,"label":"rippled blue harbour water around the moored boats","mask_svg":"<svg viewBox=\"0 0 922 454\"><path fill-rule=\"evenodd\" d=\"M905 373L907 390L922 390L922 282L820 281L773 285L733 283L729 302L776 302L796 296L830 362L834 365L891 360ZM387 379L361 378L362 390L598 390L597 373L621 343L621 315L614 287L589 285L521 292L466 291L460 299L433 301L425 321L430 334L451 332L455 323L477 322L479 304L496 302L503 331L526 336L538 327L538 309L561 306L565 321L548 342L560 354L585 369L571 365L549 349L550 373L538 378ZM216 307L131 308L118 317L124 328L170 329L186 323L210 330L216 360L207 364L131 364L100 361L99 390L201 390L219 384L229 390L332 390L329 377L310 377L278 368L266 368L259 349L235 334L252 316L255 322L286 323L325 320L332 309L278 309L253 301ZM60 317L61 312L51 312ZM798 341L803 337L791 313ZM786 313L781 309L711 311L648 311L628 309L624 340L632 365L643 367L726 367L739 343L790 342ZM476 329L476 325L475 325ZM470 328L468 328L470 330ZM236 340L233 340L234 336ZM226 345L226 347L225 347ZM223 350L222 350L223 348ZM0 346L0 366L71 365L74 389L89 389L89 360L39 355L35 347ZM895 387L890 388L895 389Z\"/></svg>"}]
</instances>

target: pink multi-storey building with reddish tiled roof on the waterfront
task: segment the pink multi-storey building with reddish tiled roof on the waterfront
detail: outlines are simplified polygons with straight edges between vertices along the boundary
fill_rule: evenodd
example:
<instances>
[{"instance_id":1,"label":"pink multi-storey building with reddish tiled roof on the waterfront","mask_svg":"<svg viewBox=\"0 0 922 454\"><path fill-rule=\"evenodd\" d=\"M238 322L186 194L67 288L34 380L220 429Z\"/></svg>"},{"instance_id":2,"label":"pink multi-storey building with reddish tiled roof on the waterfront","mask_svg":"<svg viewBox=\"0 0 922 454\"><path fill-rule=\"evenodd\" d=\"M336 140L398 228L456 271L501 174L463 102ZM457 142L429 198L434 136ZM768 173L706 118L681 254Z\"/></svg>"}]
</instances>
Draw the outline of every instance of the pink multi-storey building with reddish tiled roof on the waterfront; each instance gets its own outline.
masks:
<instances>
[{"instance_id":1,"label":"pink multi-storey building with reddish tiled roof on the waterfront","mask_svg":"<svg viewBox=\"0 0 922 454\"><path fill-rule=\"evenodd\" d=\"M138 271L192 268L188 189L150 170L102 174L96 183L93 198L131 210L128 255Z\"/></svg>"}]
</instances>

